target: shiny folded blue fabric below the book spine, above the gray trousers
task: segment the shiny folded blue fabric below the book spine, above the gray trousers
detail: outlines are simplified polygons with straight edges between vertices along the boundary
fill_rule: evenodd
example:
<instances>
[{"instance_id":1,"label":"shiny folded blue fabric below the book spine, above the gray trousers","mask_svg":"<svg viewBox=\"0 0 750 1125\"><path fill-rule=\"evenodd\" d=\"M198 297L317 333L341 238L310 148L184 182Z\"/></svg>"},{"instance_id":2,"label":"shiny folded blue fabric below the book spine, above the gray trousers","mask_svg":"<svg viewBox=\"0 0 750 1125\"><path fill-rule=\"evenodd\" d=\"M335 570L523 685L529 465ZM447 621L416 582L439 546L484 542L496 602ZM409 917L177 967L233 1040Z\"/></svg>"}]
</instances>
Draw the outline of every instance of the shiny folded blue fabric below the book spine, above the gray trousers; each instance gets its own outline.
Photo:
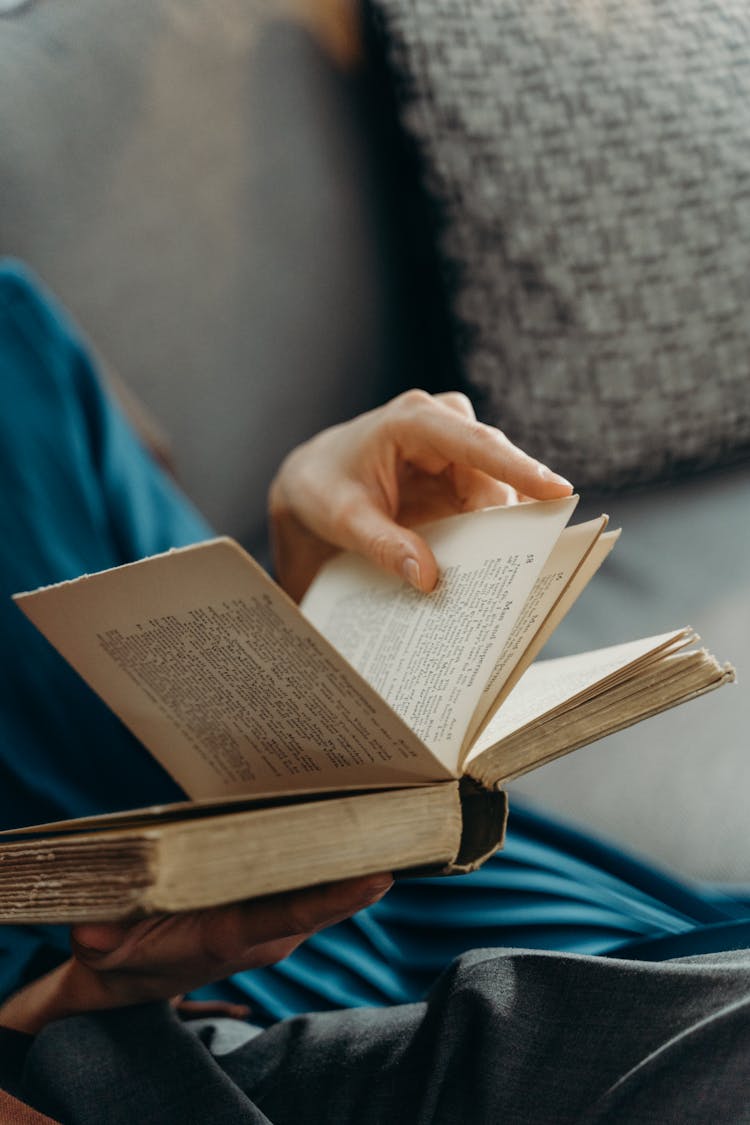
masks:
<instances>
[{"instance_id":1,"label":"shiny folded blue fabric below the book spine, above the gray trousers","mask_svg":"<svg viewBox=\"0 0 750 1125\"><path fill-rule=\"evenodd\" d=\"M235 982L255 1018L408 1002L457 956L490 946L612 956L632 950L659 961L750 947L750 909L512 800L505 849L480 871L399 882L287 961Z\"/></svg>"}]
</instances>

